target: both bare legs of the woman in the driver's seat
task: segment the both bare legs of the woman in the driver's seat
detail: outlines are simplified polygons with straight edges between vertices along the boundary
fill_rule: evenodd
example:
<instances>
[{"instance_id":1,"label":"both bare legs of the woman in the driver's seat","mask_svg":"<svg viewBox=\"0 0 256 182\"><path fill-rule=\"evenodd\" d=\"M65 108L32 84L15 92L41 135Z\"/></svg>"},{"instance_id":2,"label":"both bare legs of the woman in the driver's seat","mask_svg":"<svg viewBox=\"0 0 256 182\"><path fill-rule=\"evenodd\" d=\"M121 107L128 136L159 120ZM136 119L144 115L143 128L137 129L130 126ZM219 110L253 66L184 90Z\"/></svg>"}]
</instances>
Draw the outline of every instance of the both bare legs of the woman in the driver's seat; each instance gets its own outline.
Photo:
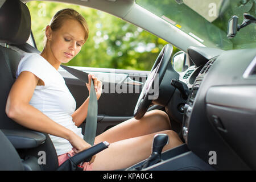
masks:
<instances>
[{"instance_id":1,"label":"both bare legs of the woman in the driver's seat","mask_svg":"<svg viewBox=\"0 0 256 182\"><path fill-rule=\"evenodd\" d=\"M98 135L96 143L107 141L109 148L96 155L93 170L114 170L127 168L151 154L155 134L169 135L170 142L163 151L179 146L183 142L171 131L168 115L161 110L148 111L142 119L131 118Z\"/></svg>"}]
</instances>

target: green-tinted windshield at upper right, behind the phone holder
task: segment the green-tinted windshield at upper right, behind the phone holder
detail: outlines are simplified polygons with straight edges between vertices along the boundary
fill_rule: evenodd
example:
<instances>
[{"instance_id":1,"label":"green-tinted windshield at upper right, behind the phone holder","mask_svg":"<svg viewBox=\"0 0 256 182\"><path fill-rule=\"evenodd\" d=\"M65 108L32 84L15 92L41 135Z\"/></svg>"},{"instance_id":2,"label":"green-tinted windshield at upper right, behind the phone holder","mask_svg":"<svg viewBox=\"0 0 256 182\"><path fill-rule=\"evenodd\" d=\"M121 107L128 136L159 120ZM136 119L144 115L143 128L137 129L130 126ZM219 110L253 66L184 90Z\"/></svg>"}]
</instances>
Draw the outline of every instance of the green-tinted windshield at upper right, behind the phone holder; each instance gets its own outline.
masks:
<instances>
[{"instance_id":1,"label":"green-tinted windshield at upper right, behind the phone holder","mask_svg":"<svg viewBox=\"0 0 256 182\"><path fill-rule=\"evenodd\" d=\"M256 47L255 23L242 28L233 39L226 37L228 20L233 15L238 16L238 24L242 24L243 13L255 17L255 0L137 0L136 3L207 47L224 50Z\"/></svg>"}]
</instances>

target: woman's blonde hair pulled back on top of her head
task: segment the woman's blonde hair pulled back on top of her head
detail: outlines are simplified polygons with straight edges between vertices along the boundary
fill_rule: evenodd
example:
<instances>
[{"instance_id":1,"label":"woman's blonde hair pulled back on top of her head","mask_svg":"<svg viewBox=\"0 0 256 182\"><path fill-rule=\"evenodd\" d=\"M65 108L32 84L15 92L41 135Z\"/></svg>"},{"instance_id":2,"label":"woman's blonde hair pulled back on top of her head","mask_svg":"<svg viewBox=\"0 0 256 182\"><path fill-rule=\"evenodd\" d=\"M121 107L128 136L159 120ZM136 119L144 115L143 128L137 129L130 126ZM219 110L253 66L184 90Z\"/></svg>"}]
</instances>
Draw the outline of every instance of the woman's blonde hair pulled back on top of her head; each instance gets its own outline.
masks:
<instances>
[{"instance_id":1,"label":"woman's blonde hair pulled back on top of her head","mask_svg":"<svg viewBox=\"0 0 256 182\"><path fill-rule=\"evenodd\" d=\"M84 30L85 30L85 42L86 42L89 36L88 24L84 19L84 17L80 13L78 13L76 10L67 8L67 9L57 11L57 13L52 17L49 26L51 27L52 31L56 31L59 28L61 28L64 20L67 20L67 19L75 19L79 23L81 23L82 27L84 27Z\"/></svg>"}]
</instances>

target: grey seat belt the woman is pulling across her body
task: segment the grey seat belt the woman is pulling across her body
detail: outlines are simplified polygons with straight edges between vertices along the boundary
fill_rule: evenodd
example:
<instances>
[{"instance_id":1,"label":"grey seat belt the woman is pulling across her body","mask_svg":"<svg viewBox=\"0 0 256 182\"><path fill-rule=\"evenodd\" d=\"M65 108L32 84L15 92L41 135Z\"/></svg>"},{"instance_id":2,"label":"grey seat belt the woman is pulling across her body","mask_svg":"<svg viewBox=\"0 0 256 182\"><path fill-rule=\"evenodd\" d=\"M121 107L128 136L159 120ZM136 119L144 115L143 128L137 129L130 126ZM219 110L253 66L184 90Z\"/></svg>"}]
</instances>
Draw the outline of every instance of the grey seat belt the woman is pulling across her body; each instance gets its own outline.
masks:
<instances>
[{"instance_id":1,"label":"grey seat belt the woman is pulling across her body","mask_svg":"<svg viewBox=\"0 0 256 182\"><path fill-rule=\"evenodd\" d=\"M71 73L71 75L79 78L79 80L84 82L89 82L88 80L88 73L80 71L78 69L74 69L71 67L67 67L65 65L60 65L66 71ZM98 116L98 101L96 92L94 89L93 80L91 78L90 82L90 96L89 96L89 105L85 123L85 133L84 133L84 140L89 143L91 146L94 145L94 139L96 137L96 129L97 129L97 116Z\"/></svg>"}]
</instances>

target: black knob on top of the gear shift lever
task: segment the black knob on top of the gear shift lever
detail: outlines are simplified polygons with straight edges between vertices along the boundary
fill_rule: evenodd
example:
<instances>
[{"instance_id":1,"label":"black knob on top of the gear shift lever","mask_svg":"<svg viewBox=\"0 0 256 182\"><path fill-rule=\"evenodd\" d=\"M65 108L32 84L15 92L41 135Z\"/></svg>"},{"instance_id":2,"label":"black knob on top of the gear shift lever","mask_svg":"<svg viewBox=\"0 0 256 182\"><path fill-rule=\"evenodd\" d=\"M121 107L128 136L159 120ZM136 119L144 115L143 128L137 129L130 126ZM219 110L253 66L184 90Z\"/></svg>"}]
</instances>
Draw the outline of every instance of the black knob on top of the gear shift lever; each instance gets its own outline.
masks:
<instances>
[{"instance_id":1,"label":"black knob on top of the gear shift lever","mask_svg":"<svg viewBox=\"0 0 256 182\"><path fill-rule=\"evenodd\" d=\"M152 143L152 155L160 155L163 147L169 143L169 136L167 134L156 134Z\"/></svg>"}]
</instances>

